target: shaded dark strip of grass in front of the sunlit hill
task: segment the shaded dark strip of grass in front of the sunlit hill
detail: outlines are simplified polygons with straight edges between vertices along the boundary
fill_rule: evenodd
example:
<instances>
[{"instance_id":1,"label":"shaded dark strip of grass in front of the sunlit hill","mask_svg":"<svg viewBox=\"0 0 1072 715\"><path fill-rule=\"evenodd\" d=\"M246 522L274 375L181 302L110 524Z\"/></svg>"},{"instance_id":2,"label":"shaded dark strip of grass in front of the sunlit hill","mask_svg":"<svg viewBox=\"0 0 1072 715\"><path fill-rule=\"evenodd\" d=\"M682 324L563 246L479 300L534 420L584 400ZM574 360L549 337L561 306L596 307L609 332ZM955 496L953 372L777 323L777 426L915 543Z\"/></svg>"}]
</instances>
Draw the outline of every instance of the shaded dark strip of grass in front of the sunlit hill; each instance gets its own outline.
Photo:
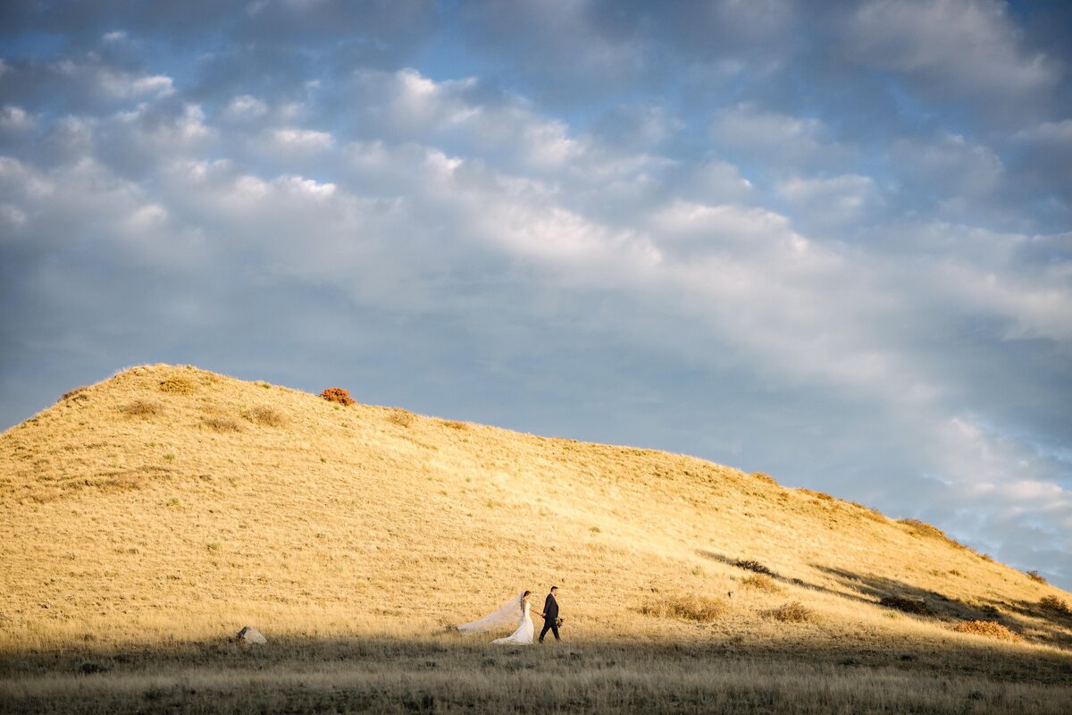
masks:
<instances>
[{"instance_id":1,"label":"shaded dark strip of grass in front of the sunlit hill","mask_svg":"<svg viewBox=\"0 0 1072 715\"><path fill-rule=\"evenodd\" d=\"M1056 714L1072 702L1062 654L807 647L622 640L503 649L443 636L8 653L0 710Z\"/></svg>"}]
</instances>

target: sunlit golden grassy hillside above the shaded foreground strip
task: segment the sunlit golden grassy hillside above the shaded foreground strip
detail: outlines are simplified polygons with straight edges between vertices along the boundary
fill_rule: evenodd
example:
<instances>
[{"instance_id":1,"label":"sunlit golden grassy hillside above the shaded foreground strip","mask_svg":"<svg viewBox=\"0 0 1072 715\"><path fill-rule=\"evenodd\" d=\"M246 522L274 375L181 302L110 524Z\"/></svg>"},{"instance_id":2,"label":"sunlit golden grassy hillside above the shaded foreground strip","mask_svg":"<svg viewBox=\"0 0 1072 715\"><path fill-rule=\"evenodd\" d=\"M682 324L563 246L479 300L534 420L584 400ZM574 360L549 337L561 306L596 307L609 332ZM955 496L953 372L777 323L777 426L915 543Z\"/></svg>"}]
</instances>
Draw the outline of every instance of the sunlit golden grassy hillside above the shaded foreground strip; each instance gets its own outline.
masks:
<instances>
[{"instance_id":1,"label":"sunlit golden grassy hillside above the shaded foreground strip","mask_svg":"<svg viewBox=\"0 0 1072 715\"><path fill-rule=\"evenodd\" d=\"M777 578L746 581L738 560ZM0 435L0 562L9 652L247 623L431 634L552 583L571 638L977 643L951 626L985 620L1027 639L1007 647L1072 646L1040 604L1068 594L925 524L689 457L190 367L124 371ZM656 614L697 595L725 612ZM770 617L787 601L812 617Z\"/></svg>"}]
</instances>

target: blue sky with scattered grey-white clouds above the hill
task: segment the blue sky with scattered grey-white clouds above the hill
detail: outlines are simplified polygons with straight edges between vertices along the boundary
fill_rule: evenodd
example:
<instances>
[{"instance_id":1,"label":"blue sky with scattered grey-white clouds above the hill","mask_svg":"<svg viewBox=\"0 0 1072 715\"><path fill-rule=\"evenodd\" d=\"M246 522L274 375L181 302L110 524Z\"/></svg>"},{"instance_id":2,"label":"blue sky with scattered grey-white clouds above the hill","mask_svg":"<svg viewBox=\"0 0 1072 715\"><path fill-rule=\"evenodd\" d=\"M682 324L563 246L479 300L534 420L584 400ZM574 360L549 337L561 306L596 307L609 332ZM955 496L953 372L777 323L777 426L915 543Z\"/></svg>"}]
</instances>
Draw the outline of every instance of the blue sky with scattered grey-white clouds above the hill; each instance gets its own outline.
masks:
<instances>
[{"instance_id":1,"label":"blue sky with scattered grey-white clouds above the hill","mask_svg":"<svg viewBox=\"0 0 1072 715\"><path fill-rule=\"evenodd\" d=\"M1072 3L0 8L0 429L190 363L1072 587Z\"/></svg>"}]
</instances>

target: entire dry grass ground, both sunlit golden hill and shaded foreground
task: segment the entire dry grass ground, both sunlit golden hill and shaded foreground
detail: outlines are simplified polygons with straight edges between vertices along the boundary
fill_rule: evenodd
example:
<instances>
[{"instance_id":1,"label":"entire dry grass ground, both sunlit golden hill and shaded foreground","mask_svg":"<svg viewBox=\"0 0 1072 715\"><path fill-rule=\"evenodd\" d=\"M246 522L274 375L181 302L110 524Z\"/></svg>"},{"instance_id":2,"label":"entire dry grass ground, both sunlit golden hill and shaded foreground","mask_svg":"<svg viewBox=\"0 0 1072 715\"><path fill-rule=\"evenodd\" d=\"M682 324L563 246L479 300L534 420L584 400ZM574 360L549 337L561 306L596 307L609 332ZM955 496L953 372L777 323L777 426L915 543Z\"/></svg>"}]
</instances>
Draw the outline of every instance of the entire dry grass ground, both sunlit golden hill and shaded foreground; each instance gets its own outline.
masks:
<instances>
[{"instance_id":1,"label":"entire dry grass ground, both sunlit golden hill and shaded foreground","mask_svg":"<svg viewBox=\"0 0 1072 715\"><path fill-rule=\"evenodd\" d=\"M1072 702L1072 597L927 524L191 367L124 371L0 435L0 564L4 712ZM561 644L449 632L551 584ZM268 645L230 641L243 625Z\"/></svg>"}]
</instances>

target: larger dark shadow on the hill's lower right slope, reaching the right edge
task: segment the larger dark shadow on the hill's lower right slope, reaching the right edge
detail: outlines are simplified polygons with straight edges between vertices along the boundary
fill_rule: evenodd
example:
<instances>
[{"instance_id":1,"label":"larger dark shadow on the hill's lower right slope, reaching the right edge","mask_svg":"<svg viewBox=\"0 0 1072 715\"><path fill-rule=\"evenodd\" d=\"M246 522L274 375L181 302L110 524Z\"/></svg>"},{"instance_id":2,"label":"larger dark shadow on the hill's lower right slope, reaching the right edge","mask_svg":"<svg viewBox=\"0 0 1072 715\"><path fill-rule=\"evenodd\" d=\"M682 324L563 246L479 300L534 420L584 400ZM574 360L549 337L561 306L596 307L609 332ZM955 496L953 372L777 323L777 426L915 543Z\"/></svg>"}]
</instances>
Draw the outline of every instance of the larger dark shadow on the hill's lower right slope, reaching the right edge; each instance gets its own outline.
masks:
<instances>
[{"instance_id":1,"label":"larger dark shadow on the hill's lower right slope, reaching the right edge","mask_svg":"<svg viewBox=\"0 0 1072 715\"><path fill-rule=\"evenodd\" d=\"M923 589L905 581L875 575L862 575L846 569L832 568L820 564L812 564L812 568L825 574L838 581L846 589L854 591L863 600L878 605L884 596L899 596L917 601L923 601L934 612L933 617L947 622L959 621L995 621L1027 639L1056 645L1062 649L1072 647L1072 634L1061 627L1057 619L1046 619L1040 613L1036 604L1027 601L1000 601L996 599L980 599L967 604L957 598L950 598L930 589ZM839 592L831 592L839 593ZM1028 619L1041 619L1032 621Z\"/></svg>"}]
</instances>

